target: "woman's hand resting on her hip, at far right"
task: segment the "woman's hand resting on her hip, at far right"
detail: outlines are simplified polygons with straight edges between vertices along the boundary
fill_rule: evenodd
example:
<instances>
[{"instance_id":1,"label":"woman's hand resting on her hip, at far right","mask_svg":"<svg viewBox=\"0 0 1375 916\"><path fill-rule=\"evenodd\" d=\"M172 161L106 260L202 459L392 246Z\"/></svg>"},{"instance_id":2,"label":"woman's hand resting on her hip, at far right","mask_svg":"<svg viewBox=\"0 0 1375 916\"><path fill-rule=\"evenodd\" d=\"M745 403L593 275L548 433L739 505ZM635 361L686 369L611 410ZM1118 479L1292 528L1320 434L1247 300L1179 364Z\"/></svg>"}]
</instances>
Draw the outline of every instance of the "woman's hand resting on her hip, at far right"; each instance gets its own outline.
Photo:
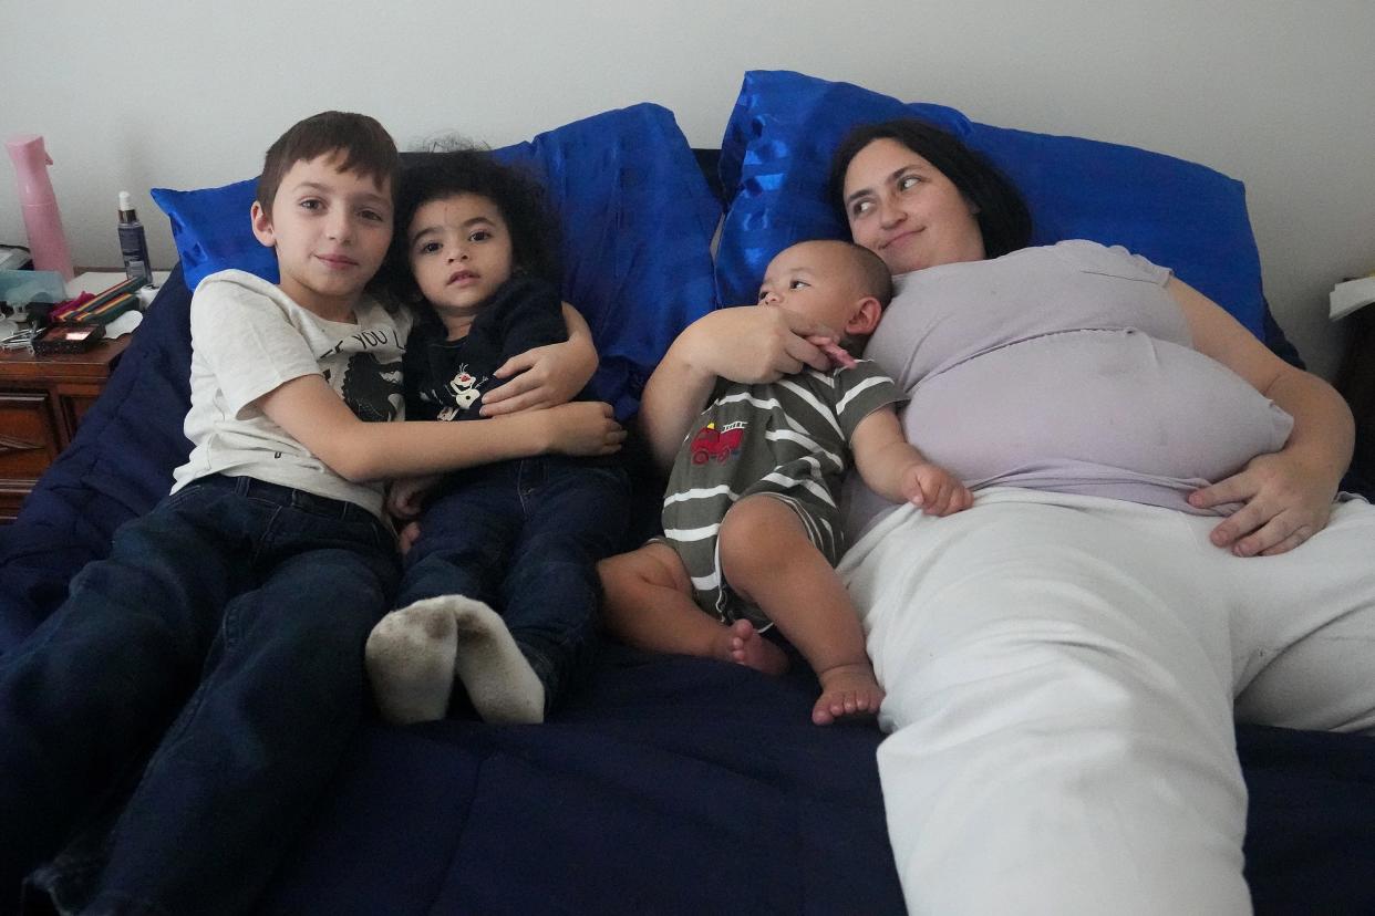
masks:
<instances>
[{"instance_id":1,"label":"woman's hand resting on her hip, at far right","mask_svg":"<svg viewBox=\"0 0 1375 916\"><path fill-rule=\"evenodd\" d=\"M1238 474L1189 494L1189 505L1244 503L1210 538L1236 556L1286 553L1324 527L1336 486L1286 452L1260 455Z\"/></svg>"}]
</instances>

